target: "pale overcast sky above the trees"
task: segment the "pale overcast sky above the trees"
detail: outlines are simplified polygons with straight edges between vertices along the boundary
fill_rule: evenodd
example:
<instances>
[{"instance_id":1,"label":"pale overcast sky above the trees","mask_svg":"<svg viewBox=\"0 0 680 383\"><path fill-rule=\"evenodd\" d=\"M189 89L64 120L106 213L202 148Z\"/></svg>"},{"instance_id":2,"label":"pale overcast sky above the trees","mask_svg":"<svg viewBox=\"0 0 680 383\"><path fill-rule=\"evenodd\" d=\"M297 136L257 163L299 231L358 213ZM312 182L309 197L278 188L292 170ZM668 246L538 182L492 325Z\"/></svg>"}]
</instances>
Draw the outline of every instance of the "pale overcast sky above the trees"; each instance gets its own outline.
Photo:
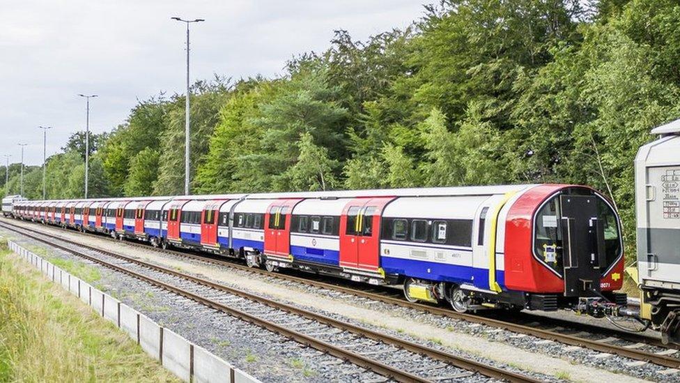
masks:
<instances>
[{"instance_id":1,"label":"pale overcast sky above the trees","mask_svg":"<svg viewBox=\"0 0 680 383\"><path fill-rule=\"evenodd\" d=\"M0 156L42 163L68 136L111 130L137 100L184 93L185 27L171 16L204 18L192 27L192 82L283 72L294 54L325 50L335 29L365 39L406 27L427 0L22 0L0 7ZM431 1L429 1L431 2ZM2 163L4 158L0 157Z\"/></svg>"}]
</instances>

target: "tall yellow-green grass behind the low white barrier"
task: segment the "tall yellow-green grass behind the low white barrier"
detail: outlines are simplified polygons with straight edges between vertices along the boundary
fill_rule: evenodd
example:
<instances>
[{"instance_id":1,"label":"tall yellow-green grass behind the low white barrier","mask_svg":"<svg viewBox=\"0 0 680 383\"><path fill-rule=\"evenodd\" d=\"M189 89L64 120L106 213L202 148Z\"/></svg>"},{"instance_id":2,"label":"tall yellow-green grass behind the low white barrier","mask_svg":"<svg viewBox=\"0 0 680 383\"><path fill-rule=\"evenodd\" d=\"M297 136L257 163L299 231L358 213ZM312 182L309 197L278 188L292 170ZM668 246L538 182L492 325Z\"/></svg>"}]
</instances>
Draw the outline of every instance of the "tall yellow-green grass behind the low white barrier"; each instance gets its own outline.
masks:
<instances>
[{"instance_id":1,"label":"tall yellow-green grass behind the low white barrier","mask_svg":"<svg viewBox=\"0 0 680 383\"><path fill-rule=\"evenodd\" d=\"M178 382L141 347L0 245L0 382Z\"/></svg>"}]
</instances>

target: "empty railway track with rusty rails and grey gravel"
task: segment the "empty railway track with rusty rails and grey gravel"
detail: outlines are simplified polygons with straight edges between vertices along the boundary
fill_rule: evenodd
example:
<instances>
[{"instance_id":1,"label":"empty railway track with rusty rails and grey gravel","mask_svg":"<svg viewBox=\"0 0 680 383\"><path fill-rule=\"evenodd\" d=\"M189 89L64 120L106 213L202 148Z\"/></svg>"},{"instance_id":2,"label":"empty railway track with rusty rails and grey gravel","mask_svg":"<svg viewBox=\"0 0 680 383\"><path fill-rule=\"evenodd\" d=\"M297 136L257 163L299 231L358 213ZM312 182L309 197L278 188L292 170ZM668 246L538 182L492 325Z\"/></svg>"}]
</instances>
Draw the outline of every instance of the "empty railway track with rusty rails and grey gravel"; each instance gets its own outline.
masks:
<instances>
[{"instance_id":1,"label":"empty railway track with rusty rails and grey gravel","mask_svg":"<svg viewBox=\"0 0 680 383\"><path fill-rule=\"evenodd\" d=\"M215 310L229 313L241 320L399 382L460 380L475 373L509 382L539 382L532 377L326 317L181 271L167 269L26 227L17 227L7 223L0 223L0 227L125 273ZM104 255L110 260L88 255L74 248L86 249L92 253ZM292 326L296 329L292 329ZM338 341L343 344L337 345ZM357 348L361 350L353 350ZM410 361L410 363L404 363L405 361Z\"/></svg>"}]
</instances>

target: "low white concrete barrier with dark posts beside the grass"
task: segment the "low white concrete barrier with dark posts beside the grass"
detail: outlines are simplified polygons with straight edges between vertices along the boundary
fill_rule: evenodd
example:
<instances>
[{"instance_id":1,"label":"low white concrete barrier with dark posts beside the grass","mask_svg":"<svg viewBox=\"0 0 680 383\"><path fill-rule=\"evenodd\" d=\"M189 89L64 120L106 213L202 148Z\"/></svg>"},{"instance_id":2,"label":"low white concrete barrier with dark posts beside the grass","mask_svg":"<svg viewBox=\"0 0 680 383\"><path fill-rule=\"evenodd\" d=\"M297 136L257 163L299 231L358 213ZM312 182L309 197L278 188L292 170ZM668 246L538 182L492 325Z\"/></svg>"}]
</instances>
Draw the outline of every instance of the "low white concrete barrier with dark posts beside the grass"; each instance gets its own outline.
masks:
<instances>
[{"instance_id":1,"label":"low white concrete barrier with dark posts beside the grass","mask_svg":"<svg viewBox=\"0 0 680 383\"><path fill-rule=\"evenodd\" d=\"M35 253L13 241L8 247L26 262L45 274L49 280L64 290L79 296L98 315L105 317L125 331L141 348L185 382L199 383L254 383L259 382L247 373L233 368L229 363L208 350L165 329L146 315L139 313L109 294L95 289Z\"/></svg>"}]
</instances>

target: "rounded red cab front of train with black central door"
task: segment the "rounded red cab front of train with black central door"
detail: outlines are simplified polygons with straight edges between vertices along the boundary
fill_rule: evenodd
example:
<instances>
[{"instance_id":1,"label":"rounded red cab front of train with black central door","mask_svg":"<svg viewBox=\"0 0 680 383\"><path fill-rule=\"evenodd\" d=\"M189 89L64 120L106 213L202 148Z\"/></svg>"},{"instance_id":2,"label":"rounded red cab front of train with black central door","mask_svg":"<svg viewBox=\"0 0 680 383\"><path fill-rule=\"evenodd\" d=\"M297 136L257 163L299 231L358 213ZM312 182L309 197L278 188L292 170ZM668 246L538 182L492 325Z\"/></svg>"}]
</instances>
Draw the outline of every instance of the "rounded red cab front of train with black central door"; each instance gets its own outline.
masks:
<instances>
[{"instance_id":1,"label":"rounded red cab front of train with black central door","mask_svg":"<svg viewBox=\"0 0 680 383\"><path fill-rule=\"evenodd\" d=\"M525 292L525 307L602 317L625 306L615 292L624 265L612 203L582 186L537 186L523 198L507 220L506 285ZM514 241L520 230L531 230L530 254Z\"/></svg>"}]
</instances>

